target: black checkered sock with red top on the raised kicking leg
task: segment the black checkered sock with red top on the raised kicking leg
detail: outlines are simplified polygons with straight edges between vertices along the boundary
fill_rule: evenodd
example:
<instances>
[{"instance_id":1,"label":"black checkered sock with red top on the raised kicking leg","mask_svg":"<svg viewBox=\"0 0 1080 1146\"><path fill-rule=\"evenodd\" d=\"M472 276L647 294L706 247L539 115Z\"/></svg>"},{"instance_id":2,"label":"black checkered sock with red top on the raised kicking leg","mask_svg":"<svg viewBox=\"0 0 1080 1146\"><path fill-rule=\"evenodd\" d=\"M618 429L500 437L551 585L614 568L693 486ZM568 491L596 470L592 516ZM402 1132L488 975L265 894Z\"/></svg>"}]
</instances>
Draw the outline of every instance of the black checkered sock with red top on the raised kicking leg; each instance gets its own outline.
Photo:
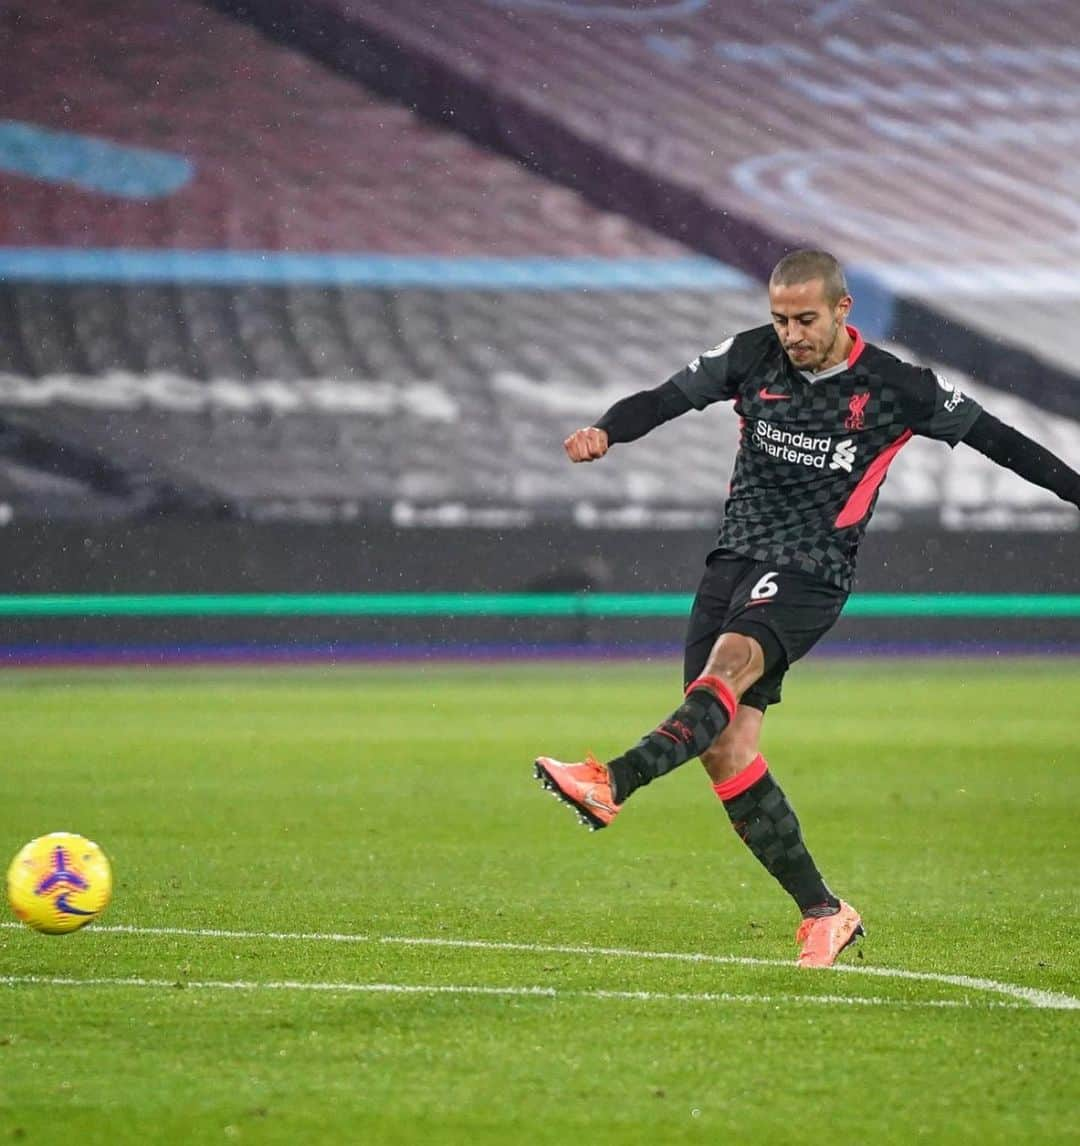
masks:
<instances>
[{"instance_id":1,"label":"black checkered sock with red top on the raised kicking leg","mask_svg":"<svg viewBox=\"0 0 1080 1146\"><path fill-rule=\"evenodd\" d=\"M609 761L611 795L616 803L657 776L699 756L735 715L738 699L718 676L690 683L686 699L663 723L628 752Z\"/></svg>"}]
</instances>

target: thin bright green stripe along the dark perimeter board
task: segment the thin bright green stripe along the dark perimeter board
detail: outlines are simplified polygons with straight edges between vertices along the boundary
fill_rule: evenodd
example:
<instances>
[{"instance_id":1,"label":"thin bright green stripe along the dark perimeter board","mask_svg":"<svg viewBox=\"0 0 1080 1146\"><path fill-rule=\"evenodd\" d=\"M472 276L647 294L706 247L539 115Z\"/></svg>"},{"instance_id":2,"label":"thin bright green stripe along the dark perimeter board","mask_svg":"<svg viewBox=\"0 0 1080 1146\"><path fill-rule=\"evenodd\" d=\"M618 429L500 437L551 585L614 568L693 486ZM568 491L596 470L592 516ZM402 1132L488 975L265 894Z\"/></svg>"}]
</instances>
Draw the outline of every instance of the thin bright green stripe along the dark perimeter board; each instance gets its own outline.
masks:
<instances>
[{"instance_id":1,"label":"thin bright green stripe along the dark perimeter board","mask_svg":"<svg viewBox=\"0 0 1080 1146\"><path fill-rule=\"evenodd\" d=\"M14 594L0 617L683 617L680 592ZM847 617L1080 617L1080 595L863 592Z\"/></svg>"}]
</instances>

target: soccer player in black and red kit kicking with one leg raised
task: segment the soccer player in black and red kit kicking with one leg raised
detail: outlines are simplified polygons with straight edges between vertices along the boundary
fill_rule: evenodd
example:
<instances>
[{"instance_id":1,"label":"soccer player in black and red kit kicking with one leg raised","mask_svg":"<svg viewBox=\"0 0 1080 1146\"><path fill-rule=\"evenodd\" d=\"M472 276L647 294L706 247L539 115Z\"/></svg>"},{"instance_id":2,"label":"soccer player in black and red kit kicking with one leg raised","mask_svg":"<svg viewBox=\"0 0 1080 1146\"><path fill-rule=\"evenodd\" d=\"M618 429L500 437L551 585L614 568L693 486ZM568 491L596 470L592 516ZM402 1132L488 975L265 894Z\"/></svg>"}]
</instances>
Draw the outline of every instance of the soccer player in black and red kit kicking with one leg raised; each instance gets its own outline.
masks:
<instances>
[{"instance_id":1,"label":"soccer player in black and red kit kicking with one leg raised","mask_svg":"<svg viewBox=\"0 0 1080 1146\"><path fill-rule=\"evenodd\" d=\"M795 900L803 967L861 935L825 885L758 741L789 666L824 636L890 463L913 434L957 442L1080 507L1080 476L933 371L864 343L836 259L796 251L768 284L772 324L728 338L655 390L616 402L564 442L594 462L665 422L734 401L739 446L719 543L690 612L682 704L623 755L540 756L537 778L590 829L639 788L699 756L735 831Z\"/></svg>"}]
</instances>

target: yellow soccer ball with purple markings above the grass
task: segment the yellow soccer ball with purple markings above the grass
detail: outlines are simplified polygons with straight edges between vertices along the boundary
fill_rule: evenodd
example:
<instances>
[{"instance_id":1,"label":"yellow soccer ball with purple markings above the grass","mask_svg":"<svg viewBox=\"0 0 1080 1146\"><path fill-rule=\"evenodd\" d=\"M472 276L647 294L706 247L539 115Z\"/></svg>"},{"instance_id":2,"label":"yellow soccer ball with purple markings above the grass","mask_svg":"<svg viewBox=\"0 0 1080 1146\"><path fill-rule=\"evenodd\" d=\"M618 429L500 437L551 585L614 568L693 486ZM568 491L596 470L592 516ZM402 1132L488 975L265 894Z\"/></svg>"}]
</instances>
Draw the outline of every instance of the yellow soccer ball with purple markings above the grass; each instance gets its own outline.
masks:
<instances>
[{"instance_id":1,"label":"yellow soccer ball with purple markings above the grass","mask_svg":"<svg viewBox=\"0 0 1080 1146\"><path fill-rule=\"evenodd\" d=\"M28 927L63 935L93 923L112 897L104 851L71 832L31 840L8 868L8 903Z\"/></svg>"}]
</instances>

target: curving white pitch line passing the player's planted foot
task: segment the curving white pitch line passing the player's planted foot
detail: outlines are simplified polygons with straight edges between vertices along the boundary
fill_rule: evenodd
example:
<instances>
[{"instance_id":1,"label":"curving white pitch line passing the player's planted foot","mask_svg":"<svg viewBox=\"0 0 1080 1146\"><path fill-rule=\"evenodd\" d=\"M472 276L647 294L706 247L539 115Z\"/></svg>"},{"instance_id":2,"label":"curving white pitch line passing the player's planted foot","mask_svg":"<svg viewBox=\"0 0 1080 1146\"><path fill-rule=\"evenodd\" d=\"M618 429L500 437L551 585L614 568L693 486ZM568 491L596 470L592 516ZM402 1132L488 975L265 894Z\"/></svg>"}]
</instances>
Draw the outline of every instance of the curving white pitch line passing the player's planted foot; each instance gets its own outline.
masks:
<instances>
[{"instance_id":1,"label":"curving white pitch line passing the player's planted foot","mask_svg":"<svg viewBox=\"0 0 1080 1146\"><path fill-rule=\"evenodd\" d=\"M0 927L21 928L22 924L0 924ZM788 959L758 959L750 956L711 955L701 951L642 951L625 947L585 947L547 943L516 943L499 940L446 939L406 935L359 935L347 932L250 932L226 931L216 927L135 927L128 924L94 926L95 932L114 935L180 935L190 939L237 939L272 940L275 942L308 943L386 943L399 947L443 947L459 950L522 951L531 955L600 956L618 959L666 959L676 963L699 963L710 966L741 967L786 967L795 964ZM915 982L942 983L968 990L1004 995L1028 1006L1049 1011L1080 1010L1080 999L1059 991L1046 991L1036 987L1003 983L995 979L976 979L971 975L953 975L932 971L906 971L899 967L861 967L856 964L837 964L832 971L852 975L876 975L881 979L906 979Z\"/></svg>"}]
</instances>

